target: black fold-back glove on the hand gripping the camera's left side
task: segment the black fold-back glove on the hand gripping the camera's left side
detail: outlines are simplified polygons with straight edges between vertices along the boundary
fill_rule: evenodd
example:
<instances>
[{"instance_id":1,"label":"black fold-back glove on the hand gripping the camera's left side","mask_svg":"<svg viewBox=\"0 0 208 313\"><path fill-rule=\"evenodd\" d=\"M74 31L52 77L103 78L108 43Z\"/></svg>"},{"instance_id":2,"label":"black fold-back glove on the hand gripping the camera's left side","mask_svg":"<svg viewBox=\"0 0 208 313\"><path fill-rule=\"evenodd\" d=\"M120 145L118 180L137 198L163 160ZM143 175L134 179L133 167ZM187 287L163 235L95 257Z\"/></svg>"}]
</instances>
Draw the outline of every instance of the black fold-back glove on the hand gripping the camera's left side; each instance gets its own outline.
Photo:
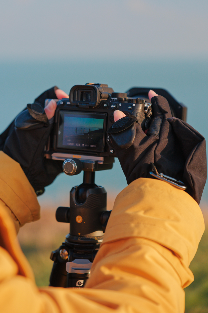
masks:
<instances>
[{"instance_id":1,"label":"black fold-back glove on the hand gripping the camera's left side","mask_svg":"<svg viewBox=\"0 0 208 313\"><path fill-rule=\"evenodd\" d=\"M46 159L44 147L53 127L44 111L45 99L57 99L56 86L28 104L0 135L0 150L20 163L37 195L62 172L62 161Z\"/></svg>"}]
</instances>

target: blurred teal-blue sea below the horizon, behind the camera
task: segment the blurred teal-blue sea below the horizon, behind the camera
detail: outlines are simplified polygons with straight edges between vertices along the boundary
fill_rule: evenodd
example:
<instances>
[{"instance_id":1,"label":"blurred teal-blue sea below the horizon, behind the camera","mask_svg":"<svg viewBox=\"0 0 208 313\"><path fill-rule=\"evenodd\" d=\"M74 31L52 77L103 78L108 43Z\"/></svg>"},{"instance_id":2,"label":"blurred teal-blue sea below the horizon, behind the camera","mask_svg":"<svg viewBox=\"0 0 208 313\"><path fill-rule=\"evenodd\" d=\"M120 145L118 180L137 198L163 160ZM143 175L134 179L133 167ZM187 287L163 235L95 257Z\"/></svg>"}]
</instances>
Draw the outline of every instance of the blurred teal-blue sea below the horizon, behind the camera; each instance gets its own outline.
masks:
<instances>
[{"instance_id":1,"label":"blurred teal-blue sea below the horizon, behind the camera","mask_svg":"<svg viewBox=\"0 0 208 313\"><path fill-rule=\"evenodd\" d=\"M73 85L88 82L108 84L115 92L131 87L163 88L188 108L187 122L208 139L208 60L31 60L0 62L0 131L44 90L57 85L69 93ZM111 170L96 172L95 182L109 197L127 186L115 159ZM38 197L42 207L69 204L72 186L82 183L82 173L60 174ZM201 203L208 202L206 183ZM111 209L111 208L109 208Z\"/></svg>"}]
</instances>

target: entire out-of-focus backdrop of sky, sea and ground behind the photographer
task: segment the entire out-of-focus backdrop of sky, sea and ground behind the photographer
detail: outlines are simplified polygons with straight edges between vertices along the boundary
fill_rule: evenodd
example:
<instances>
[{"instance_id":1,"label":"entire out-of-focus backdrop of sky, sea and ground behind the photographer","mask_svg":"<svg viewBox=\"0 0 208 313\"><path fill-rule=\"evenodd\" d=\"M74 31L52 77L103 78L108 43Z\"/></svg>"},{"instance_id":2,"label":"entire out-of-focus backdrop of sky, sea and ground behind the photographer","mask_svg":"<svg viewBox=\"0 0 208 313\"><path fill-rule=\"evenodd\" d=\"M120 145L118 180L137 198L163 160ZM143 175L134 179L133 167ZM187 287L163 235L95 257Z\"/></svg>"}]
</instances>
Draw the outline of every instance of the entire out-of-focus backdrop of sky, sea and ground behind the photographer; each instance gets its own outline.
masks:
<instances>
[{"instance_id":1,"label":"entire out-of-focus backdrop of sky, sea and ground behind the photographer","mask_svg":"<svg viewBox=\"0 0 208 313\"><path fill-rule=\"evenodd\" d=\"M7 0L0 4L0 88L2 132L27 103L57 85L108 84L116 92L131 87L168 90L188 107L187 122L208 138L207 0ZM68 232L55 220L58 206L69 205L69 191L82 174L61 174L38 198L40 221L20 230L19 239L36 275L47 285L52 261ZM108 192L108 210L126 179L116 160L96 173ZM201 200L207 220L208 184ZM52 234L53 229L53 234ZM205 232L191 269L194 283L185 289L186 312L208 312Z\"/></svg>"}]
</instances>

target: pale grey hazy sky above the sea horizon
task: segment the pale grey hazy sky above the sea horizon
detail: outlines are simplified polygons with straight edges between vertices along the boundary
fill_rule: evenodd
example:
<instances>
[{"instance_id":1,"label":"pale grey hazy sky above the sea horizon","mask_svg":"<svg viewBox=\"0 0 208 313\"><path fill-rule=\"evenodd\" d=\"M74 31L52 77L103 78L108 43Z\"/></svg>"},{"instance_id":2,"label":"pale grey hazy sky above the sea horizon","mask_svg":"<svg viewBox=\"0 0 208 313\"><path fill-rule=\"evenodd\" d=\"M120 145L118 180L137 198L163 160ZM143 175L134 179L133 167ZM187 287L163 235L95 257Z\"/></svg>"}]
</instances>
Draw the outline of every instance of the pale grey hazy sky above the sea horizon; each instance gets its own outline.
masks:
<instances>
[{"instance_id":1,"label":"pale grey hazy sky above the sea horizon","mask_svg":"<svg viewBox=\"0 0 208 313\"><path fill-rule=\"evenodd\" d=\"M2 0L0 60L191 59L208 54L207 0Z\"/></svg>"}]
</instances>

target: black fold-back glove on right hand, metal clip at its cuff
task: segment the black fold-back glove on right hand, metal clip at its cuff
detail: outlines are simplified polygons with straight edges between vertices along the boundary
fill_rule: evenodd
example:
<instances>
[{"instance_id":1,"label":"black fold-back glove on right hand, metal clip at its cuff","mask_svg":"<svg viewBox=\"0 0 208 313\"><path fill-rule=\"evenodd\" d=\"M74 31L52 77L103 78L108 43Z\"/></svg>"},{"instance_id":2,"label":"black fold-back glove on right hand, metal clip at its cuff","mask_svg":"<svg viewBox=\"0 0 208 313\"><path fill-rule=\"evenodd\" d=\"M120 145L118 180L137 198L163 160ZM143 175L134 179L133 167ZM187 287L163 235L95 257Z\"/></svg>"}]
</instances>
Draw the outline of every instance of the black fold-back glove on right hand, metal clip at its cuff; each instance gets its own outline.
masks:
<instances>
[{"instance_id":1,"label":"black fold-back glove on right hand, metal clip at its cuff","mask_svg":"<svg viewBox=\"0 0 208 313\"><path fill-rule=\"evenodd\" d=\"M157 171L184 182L197 203L206 183L205 138L186 122L172 117L167 100L151 99L152 114L147 135L134 116L116 121L107 131L126 181L149 177L151 162Z\"/></svg>"}]
</instances>

